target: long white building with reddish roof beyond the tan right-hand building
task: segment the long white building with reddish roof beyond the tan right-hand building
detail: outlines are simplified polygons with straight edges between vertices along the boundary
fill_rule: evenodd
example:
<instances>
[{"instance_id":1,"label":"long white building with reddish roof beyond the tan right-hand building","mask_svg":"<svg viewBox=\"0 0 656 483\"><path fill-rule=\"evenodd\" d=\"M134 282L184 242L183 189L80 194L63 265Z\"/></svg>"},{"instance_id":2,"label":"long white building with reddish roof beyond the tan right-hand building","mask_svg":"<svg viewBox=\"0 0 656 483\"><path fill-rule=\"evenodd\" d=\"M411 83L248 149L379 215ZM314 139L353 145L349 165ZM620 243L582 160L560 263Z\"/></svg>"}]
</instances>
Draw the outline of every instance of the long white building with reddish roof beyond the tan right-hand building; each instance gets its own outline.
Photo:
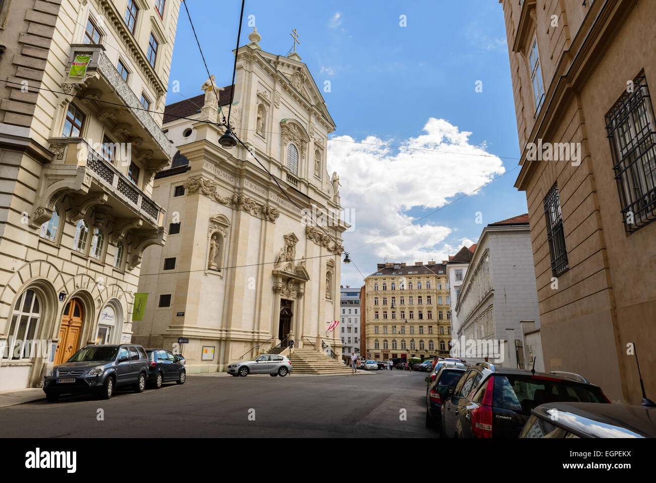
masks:
<instances>
[{"instance_id":1,"label":"long white building with reddish roof beyond the tan right-hand building","mask_svg":"<svg viewBox=\"0 0 656 483\"><path fill-rule=\"evenodd\" d=\"M474 357L463 354L466 343L485 341L484 347L494 347L496 351L488 354L491 362L501 355L504 367L527 367L529 354L524 350L523 331L533 332L540 326L527 215L492 223L483 229L460 287L456 312L459 321L456 347L467 362L480 362L485 354L477 353ZM537 356L541 351L533 350L531 354ZM536 370L541 364L536 362Z\"/></svg>"}]
</instances>

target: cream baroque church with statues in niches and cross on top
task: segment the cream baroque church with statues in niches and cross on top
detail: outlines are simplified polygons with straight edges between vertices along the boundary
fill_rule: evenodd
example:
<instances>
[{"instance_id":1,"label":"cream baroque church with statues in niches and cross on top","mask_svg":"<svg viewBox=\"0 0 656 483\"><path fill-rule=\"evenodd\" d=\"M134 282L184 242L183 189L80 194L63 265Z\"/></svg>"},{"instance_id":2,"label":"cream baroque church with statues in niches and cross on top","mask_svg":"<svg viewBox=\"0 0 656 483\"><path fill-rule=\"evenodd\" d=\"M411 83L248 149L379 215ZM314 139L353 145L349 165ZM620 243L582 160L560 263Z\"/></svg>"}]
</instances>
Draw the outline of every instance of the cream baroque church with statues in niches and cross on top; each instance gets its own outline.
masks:
<instances>
[{"instance_id":1,"label":"cream baroque church with statues in niches and cross on top","mask_svg":"<svg viewBox=\"0 0 656 483\"><path fill-rule=\"evenodd\" d=\"M341 352L331 322L349 226L326 167L335 123L296 52L263 51L256 30L249 39L237 52L230 117L247 147L218 144L224 128L213 123L227 116L233 86L214 76L204 94L165 111L173 162L155 177L154 197L166 209L167 244L144 253L138 291L149 298L133 341L178 348L190 373L290 341ZM319 228L317 218L331 222Z\"/></svg>"}]
</instances>

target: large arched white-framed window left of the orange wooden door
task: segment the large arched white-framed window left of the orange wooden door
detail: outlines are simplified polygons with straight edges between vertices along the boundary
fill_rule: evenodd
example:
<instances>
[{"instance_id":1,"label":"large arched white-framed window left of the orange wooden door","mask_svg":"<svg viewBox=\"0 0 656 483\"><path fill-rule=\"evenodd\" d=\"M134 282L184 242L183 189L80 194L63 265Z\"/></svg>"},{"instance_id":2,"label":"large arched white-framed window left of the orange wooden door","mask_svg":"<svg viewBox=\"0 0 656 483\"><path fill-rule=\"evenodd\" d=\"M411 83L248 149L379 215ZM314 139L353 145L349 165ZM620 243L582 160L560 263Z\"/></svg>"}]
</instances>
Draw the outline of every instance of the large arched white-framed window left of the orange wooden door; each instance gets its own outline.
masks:
<instances>
[{"instance_id":1,"label":"large arched white-framed window left of the orange wooden door","mask_svg":"<svg viewBox=\"0 0 656 483\"><path fill-rule=\"evenodd\" d=\"M11 326L9 327L9 345L7 345L7 358L27 359L30 358L30 348L32 341L38 337L37 329L41 319L41 301L37 293L28 289L18 297L14 311L11 316ZM13 344L19 345L14 348ZM0 358L4 358L4 352Z\"/></svg>"}]
</instances>

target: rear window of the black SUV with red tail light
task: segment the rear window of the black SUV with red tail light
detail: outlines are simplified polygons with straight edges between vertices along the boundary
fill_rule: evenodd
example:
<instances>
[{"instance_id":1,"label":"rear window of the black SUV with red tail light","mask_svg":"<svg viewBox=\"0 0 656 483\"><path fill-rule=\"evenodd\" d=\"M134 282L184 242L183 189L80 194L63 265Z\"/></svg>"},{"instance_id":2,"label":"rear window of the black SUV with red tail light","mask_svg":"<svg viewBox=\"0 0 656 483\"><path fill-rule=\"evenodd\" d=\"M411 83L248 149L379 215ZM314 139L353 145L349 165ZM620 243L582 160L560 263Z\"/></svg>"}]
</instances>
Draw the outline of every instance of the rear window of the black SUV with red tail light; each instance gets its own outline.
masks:
<instances>
[{"instance_id":1,"label":"rear window of the black SUV with red tail light","mask_svg":"<svg viewBox=\"0 0 656 483\"><path fill-rule=\"evenodd\" d=\"M546 402L607 402L602 391L571 381L538 375L495 375L493 406L530 416Z\"/></svg>"}]
</instances>

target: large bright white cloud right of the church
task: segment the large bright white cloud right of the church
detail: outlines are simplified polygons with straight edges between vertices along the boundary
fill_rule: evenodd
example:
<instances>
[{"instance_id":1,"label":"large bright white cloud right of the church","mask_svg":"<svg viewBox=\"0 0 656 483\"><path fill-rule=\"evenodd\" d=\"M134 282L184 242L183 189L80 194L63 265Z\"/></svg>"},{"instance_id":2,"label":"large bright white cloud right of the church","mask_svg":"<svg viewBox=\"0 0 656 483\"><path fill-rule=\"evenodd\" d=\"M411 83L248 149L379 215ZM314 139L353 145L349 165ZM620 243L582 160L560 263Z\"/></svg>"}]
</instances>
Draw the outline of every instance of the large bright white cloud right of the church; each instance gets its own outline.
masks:
<instances>
[{"instance_id":1,"label":"large bright white cloud right of the church","mask_svg":"<svg viewBox=\"0 0 656 483\"><path fill-rule=\"evenodd\" d=\"M330 172L340 175L342 207L354 209L354 228L344 233L344 243L365 276L384 257L407 263L440 262L474 243L460 238L449 244L447 238L453 238L457 227L440 226L432 221L436 216L411 224L416 218L407 214L412 207L442 207L448 198L472 192L504 173L501 159L487 153L485 144L470 144L471 134L431 117L422 134L402 142L374 136L360 143L350 136L329 142L328 163ZM394 233L378 240L390 232ZM356 250L365 243L371 245ZM351 282L360 278L346 266L342 272L354 277Z\"/></svg>"}]
</instances>

